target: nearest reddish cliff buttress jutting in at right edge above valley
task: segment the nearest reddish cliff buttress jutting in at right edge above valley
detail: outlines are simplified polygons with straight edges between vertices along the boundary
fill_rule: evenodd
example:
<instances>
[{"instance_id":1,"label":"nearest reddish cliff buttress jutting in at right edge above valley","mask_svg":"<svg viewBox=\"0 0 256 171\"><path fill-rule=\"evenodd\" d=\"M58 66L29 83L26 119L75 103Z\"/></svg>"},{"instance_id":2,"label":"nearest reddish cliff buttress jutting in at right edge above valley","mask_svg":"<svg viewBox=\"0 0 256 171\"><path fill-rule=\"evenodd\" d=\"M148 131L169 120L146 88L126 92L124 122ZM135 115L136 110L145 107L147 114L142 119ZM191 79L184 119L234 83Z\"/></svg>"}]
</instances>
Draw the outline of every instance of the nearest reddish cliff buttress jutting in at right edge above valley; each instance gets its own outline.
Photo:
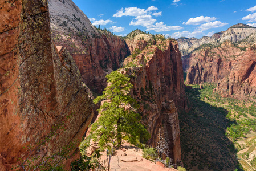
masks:
<instances>
[{"instance_id":1,"label":"nearest reddish cliff buttress jutting in at right edge above valley","mask_svg":"<svg viewBox=\"0 0 256 171\"><path fill-rule=\"evenodd\" d=\"M256 96L256 46L251 46L239 56L229 76L217 85L217 91L224 97L247 99ZM246 96L245 96L246 95Z\"/></svg>"}]
</instances>

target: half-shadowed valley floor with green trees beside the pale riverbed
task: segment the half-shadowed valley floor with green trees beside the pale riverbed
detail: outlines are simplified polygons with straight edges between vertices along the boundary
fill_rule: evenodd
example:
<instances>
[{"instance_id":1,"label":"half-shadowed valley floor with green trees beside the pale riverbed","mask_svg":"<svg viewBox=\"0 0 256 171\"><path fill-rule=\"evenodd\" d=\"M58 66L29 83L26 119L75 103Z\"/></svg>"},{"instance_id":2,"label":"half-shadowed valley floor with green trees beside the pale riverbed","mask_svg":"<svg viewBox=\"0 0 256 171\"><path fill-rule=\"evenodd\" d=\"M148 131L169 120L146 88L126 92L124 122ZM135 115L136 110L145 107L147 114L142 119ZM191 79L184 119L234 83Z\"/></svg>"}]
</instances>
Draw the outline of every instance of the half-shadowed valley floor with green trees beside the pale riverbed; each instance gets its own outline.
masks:
<instances>
[{"instance_id":1,"label":"half-shadowed valley floor with green trees beside the pale riverbed","mask_svg":"<svg viewBox=\"0 0 256 171\"><path fill-rule=\"evenodd\" d=\"M256 103L221 97L216 84L185 89L190 112L180 113L182 161L187 169L242 170L243 141L255 131ZM198 143L200 142L200 143ZM254 141L246 143L249 147ZM246 154L244 153L243 156ZM247 154L248 155L248 154ZM246 157L245 157L246 160Z\"/></svg>"}]
</instances>

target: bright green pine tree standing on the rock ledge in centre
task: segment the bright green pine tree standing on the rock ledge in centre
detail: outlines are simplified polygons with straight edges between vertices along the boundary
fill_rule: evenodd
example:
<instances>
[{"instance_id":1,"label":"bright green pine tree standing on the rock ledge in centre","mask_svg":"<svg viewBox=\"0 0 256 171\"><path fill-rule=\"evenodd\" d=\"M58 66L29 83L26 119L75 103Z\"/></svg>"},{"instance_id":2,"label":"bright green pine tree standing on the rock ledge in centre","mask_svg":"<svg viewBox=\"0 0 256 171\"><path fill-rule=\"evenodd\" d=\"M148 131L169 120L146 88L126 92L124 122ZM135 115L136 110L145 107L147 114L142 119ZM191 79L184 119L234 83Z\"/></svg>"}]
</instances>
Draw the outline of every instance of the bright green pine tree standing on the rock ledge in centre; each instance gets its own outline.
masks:
<instances>
[{"instance_id":1,"label":"bright green pine tree standing on the rock ledge in centre","mask_svg":"<svg viewBox=\"0 0 256 171\"><path fill-rule=\"evenodd\" d=\"M102 96L94 99L95 104L106 100L98 110L101 115L99 120L92 124L94 141L98 141L101 148L108 146L112 140L117 141L119 148L124 137L128 137L131 144L136 144L138 139L147 141L150 135L140 123L141 116L136 113L139 105L130 95L130 79L118 71L113 71L106 77L109 85L104 89Z\"/></svg>"}]
</instances>

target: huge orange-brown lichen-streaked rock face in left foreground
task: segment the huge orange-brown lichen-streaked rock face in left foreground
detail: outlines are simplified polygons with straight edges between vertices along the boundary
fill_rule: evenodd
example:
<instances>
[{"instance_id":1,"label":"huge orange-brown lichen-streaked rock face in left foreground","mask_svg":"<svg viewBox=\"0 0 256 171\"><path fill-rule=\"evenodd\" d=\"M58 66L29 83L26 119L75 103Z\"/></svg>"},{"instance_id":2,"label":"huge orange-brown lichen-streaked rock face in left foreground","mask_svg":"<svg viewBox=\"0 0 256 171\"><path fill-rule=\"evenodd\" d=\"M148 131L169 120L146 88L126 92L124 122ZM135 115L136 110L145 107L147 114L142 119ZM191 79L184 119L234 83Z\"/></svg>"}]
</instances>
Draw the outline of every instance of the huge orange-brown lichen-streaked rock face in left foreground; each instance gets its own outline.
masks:
<instances>
[{"instance_id":1,"label":"huge orange-brown lichen-streaked rock face in left foreground","mask_svg":"<svg viewBox=\"0 0 256 171\"><path fill-rule=\"evenodd\" d=\"M72 57L51 42L47 1L5 1L0 12L0 170L9 170L17 158L27 157L23 147L44 140L71 114L67 131L56 130L40 156L82 139L92 101ZM70 161L63 164L68 168Z\"/></svg>"}]
</instances>

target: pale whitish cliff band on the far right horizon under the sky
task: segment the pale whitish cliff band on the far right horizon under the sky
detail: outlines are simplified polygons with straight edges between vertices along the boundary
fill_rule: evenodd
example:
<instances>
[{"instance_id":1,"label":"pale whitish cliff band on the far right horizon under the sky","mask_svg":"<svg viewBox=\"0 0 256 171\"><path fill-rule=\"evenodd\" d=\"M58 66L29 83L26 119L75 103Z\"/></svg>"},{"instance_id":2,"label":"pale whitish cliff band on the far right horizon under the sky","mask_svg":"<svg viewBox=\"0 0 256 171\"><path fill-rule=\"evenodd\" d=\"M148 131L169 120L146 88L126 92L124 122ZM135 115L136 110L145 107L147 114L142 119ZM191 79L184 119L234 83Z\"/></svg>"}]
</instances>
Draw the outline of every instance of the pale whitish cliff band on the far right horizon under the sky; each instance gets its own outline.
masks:
<instances>
[{"instance_id":1,"label":"pale whitish cliff band on the far right horizon under the sky","mask_svg":"<svg viewBox=\"0 0 256 171\"><path fill-rule=\"evenodd\" d=\"M213 44L224 43L229 41L231 43L237 43L251 34L256 33L256 27L251 27L239 23L237 25L231 26L226 31L218 32L213 34L211 37L204 36L201 39L196 38L179 38L177 39L178 44L180 45L180 51L182 56L188 55L189 53L196 50L202 44Z\"/></svg>"}]
</instances>

